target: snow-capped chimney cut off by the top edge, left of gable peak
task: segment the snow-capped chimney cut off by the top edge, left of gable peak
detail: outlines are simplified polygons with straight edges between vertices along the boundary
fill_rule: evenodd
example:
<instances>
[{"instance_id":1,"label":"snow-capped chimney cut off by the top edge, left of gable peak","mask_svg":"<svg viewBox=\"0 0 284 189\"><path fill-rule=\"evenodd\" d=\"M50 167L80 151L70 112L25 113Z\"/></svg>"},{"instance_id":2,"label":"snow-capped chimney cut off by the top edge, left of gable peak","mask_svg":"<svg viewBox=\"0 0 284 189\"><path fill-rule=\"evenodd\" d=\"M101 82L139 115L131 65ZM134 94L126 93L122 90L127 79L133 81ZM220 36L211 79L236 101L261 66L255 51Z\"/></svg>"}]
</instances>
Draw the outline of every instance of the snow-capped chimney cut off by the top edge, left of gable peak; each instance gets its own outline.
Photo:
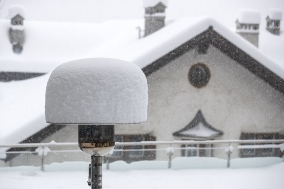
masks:
<instances>
[{"instance_id":1,"label":"snow-capped chimney cut off by the top edge, left of gable peak","mask_svg":"<svg viewBox=\"0 0 284 189\"><path fill-rule=\"evenodd\" d=\"M145 36L164 26L167 0L143 0L145 8Z\"/></svg>"}]
</instances>

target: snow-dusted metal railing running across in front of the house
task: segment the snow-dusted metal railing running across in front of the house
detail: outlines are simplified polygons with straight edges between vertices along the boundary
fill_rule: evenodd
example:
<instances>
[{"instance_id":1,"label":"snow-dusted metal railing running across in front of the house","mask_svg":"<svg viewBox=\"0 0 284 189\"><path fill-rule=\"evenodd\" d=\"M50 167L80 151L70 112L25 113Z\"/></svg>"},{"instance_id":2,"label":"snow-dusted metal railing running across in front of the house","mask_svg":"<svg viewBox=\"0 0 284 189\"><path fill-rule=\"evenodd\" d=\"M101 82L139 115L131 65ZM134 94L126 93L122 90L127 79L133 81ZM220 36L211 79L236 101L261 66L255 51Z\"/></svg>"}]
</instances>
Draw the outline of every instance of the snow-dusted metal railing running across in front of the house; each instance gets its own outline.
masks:
<instances>
[{"instance_id":1,"label":"snow-dusted metal railing running across in front of the house","mask_svg":"<svg viewBox=\"0 0 284 189\"><path fill-rule=\"evenodd\" d=\"M187 147L187 145L210 145L220 144L225 145L223 147ZM237 147L232 145L238 144ZM281 140L205 140L205 141L194 141L194 140L182 140L182 141L141 141L141 142L116 142L116 146L155 146L159 145L159 148L155 149L114 149L113 151L165 151L168 155L168 168L171 168L171 161L173 158L174 150L225 150L227 155L227 167L230 167L231 153L234 149L280 149L284 153L284 139ZM181 147L181 146L185 147ZM165 146L161 148L161 146ZM178 147L177 147L178 146ZM34 153L41 155L41 170L44 170L44 158L47 153L50 152L80 152L80 150L50 150L52 147L78 147L77 142L66 142L66 143L20 143L20 144L0 144L0 153L5 154L17 154L17 153ZM36 151L1 151L1 148L12 149L12 148L37 148ZM107 162L109 163L109 162ZM108 165L107 165L108 167Z\"/></svg>"}]
</instances>

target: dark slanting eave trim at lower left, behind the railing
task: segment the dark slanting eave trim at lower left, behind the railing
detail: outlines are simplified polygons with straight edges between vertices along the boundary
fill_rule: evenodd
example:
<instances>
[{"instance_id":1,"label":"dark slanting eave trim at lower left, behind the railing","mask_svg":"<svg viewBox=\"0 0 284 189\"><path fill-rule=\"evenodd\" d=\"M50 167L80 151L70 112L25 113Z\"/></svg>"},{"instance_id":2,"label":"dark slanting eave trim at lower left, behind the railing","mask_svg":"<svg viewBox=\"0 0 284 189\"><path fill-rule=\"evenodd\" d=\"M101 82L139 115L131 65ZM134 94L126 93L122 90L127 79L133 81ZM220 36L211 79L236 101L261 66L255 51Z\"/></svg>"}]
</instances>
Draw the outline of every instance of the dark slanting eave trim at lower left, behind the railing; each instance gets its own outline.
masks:
<instances>
[{"instance_id":1,"label":"dark slanting eave trim at lower left, behind the railing","mask_svg":"<svg viewBox=\"0 0 284 189\"><path fill-rule=\"evenodd\" d=\"M32 136L26 138L25 140L21 141L20 143L41 143L42 140L46 139L50 135L59 130L63 129L66 125L48 125L41 131L33 134ZM7 151L35 151L37 148L11 148ZM6 158L4 159L5 162L11 161L15 157L20 155L19 153L8 153Z\"/></svg>"}]
</instances>

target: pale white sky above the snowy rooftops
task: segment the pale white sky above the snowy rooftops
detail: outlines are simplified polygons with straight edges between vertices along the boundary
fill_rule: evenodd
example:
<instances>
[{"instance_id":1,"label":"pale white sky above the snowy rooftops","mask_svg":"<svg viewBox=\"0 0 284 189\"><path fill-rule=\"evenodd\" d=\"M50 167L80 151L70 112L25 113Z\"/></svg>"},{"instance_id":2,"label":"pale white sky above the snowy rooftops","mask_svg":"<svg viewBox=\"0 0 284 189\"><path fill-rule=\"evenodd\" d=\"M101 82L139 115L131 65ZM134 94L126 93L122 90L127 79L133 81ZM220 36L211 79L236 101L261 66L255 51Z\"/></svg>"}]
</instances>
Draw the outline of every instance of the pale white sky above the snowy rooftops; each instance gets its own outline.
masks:
<instances>
[{"instance_id":1,"label":"pale white sky above the snowy rooftops","mask_svg":"<svg viewBox=\"0 0 284 189\"><path fill-rule=\"evenodd\" d=\"M142 0L1 0L0 19L6 19L8 7L15 4L24 5L26 19L30 20L101 22L143 19L144 14ZM269 8L284 11L284 0L168 0L166 16L211 16L234 27L238 10L244 8L260 11L265 19Z\"/></svg>"}]
</instances>

